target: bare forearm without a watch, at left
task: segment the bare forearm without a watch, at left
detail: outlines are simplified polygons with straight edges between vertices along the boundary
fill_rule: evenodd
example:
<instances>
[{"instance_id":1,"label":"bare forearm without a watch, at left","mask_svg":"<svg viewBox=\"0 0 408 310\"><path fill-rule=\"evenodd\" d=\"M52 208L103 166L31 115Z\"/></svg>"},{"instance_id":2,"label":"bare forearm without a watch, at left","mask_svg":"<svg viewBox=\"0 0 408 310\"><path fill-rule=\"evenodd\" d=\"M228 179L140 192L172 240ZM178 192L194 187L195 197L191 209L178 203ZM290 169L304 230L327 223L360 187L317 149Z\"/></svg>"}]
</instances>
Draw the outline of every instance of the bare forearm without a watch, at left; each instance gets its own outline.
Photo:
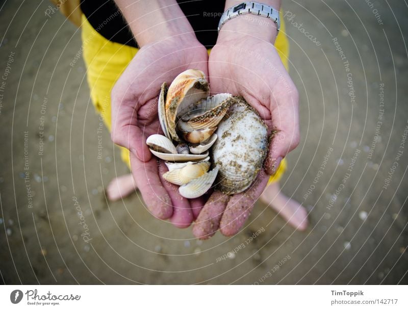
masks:
<instances>
[{"instance_id":1,"label":"bare forearm without a watch, at left","mask_svg":"<svg viewBox=\"0 0 408 310\"><path fill-rule=\"evenodd\" d=\"M139 46L177 38L195 39L194 31L176 0L115 0Z\"/></svg>"}]
</instances>

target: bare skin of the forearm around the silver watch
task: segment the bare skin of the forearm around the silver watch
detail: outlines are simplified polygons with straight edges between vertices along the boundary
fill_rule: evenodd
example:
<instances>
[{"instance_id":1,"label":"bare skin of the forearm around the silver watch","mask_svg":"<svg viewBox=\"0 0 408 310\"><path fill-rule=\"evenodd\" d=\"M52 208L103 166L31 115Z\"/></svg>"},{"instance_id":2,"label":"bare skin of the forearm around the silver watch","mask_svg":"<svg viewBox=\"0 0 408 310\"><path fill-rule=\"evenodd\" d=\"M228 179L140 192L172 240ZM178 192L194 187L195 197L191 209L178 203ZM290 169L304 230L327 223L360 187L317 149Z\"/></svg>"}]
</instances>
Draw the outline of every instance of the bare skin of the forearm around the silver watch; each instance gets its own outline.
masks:
<instances>
[{"instance_id":1,"label":"bare skin of the forearm around the silver watch","mask_svg":"<svg viewBox=\"0 0 408 310\"><path fill-rule=\"evenodd\" d=\"M226 0L225 10L240 3L242 3L240 0ZM260 3L268 5L277 11L281 8L281 0L262 0ZM274 42L277 35L276 24L271 19L263 16L245 14L228 20L222 26L218 38L222 40L233 40L243 35Z\"/></svg>"}]
</instances>

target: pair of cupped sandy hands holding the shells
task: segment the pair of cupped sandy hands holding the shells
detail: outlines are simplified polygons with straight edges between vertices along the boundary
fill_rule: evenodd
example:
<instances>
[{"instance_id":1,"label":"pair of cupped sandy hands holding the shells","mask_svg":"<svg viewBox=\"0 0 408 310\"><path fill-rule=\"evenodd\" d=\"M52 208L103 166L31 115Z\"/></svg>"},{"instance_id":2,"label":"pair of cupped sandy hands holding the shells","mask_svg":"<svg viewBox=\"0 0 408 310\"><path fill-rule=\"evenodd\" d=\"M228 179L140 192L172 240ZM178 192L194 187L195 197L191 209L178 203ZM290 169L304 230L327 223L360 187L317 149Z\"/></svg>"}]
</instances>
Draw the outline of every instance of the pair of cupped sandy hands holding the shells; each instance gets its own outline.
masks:
<instances>
[{"instance_id":1,"label":"pair of cupped sandy hands holding the shells","mask_svg":"<svg viewBox=\"0 0 408 310\"><path fill-rule=\"evenodd\" d=\"M265 170L244 193L227 196L215 191L209 198L183 198L178 187L163 179L167 168L152 157L145 143L149 135L161 133L157 114L161 84L169 85L177 74L193 68L209 76L212 93L242 95L270 133L276 131ZM232 236L249 217L269 175L298 144L298 94L272 43L246 35L219 36L209 57L195 37L168 38L144 45L117 81L112 91L111 136L130 150L136 185L152 215L181 228L195 220L193 234L201 239L218 228Z\"/></svg>"}]
</instances>

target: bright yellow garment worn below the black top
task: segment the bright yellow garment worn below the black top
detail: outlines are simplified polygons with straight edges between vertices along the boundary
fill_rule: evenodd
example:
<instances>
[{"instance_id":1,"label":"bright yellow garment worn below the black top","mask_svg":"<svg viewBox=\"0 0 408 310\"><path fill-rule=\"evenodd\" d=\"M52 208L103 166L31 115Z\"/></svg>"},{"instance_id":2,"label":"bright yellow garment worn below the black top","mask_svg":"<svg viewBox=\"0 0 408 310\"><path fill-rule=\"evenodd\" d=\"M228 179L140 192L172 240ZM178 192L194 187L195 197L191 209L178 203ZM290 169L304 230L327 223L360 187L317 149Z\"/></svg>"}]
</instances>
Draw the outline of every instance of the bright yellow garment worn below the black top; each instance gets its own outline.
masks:
<instances>
[{"instance_id":1,"label":"bright yellow garment worn below the black top","mask_svg":"<svg viewBox=\"0 0 408 310\"><path fill-rule=\"evenodd\" d=\"M276 37L275 47L288 69L289 41L285 35L285 23L281 15L281 31ZM136 55L138 48L111 42L98 34L82 15L82 51L87 68L87 80L91 90L91 100L98 114L111 131L111 91L119 76ZM210 50L209 50L210 53ZM121 158L130 168L129 150L121 149ZM286 160L281 162L269 183L278 181L286 170Z\"/></svg>"}]
</instances>

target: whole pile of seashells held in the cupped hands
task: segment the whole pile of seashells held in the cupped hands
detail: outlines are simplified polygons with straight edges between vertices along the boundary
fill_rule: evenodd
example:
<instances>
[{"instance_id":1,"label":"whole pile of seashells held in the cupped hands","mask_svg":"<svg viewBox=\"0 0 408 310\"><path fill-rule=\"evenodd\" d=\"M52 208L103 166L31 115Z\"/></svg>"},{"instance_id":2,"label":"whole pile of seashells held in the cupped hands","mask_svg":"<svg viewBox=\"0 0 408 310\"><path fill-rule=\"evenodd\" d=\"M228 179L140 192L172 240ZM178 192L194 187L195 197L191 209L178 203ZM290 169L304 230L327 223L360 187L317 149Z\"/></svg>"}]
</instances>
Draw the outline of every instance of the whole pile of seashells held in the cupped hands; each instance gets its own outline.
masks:
<instances>
[{"instance_id":1,"label":"whole pile of seashells held in the cupped hands","mask_svg":"<svg viewBox=\"0 0 408 310\"><path fill-rule=\"evenodd\" d=\"M169 88L163 83L158 113L164 136L146 140L169 169L163 177L186 198L205 194L215 181L226 194L244 191L266 157L267 128L257 112L242 97L209 95L200 70L182 72Z\"/></svg>"}]
</instances>

